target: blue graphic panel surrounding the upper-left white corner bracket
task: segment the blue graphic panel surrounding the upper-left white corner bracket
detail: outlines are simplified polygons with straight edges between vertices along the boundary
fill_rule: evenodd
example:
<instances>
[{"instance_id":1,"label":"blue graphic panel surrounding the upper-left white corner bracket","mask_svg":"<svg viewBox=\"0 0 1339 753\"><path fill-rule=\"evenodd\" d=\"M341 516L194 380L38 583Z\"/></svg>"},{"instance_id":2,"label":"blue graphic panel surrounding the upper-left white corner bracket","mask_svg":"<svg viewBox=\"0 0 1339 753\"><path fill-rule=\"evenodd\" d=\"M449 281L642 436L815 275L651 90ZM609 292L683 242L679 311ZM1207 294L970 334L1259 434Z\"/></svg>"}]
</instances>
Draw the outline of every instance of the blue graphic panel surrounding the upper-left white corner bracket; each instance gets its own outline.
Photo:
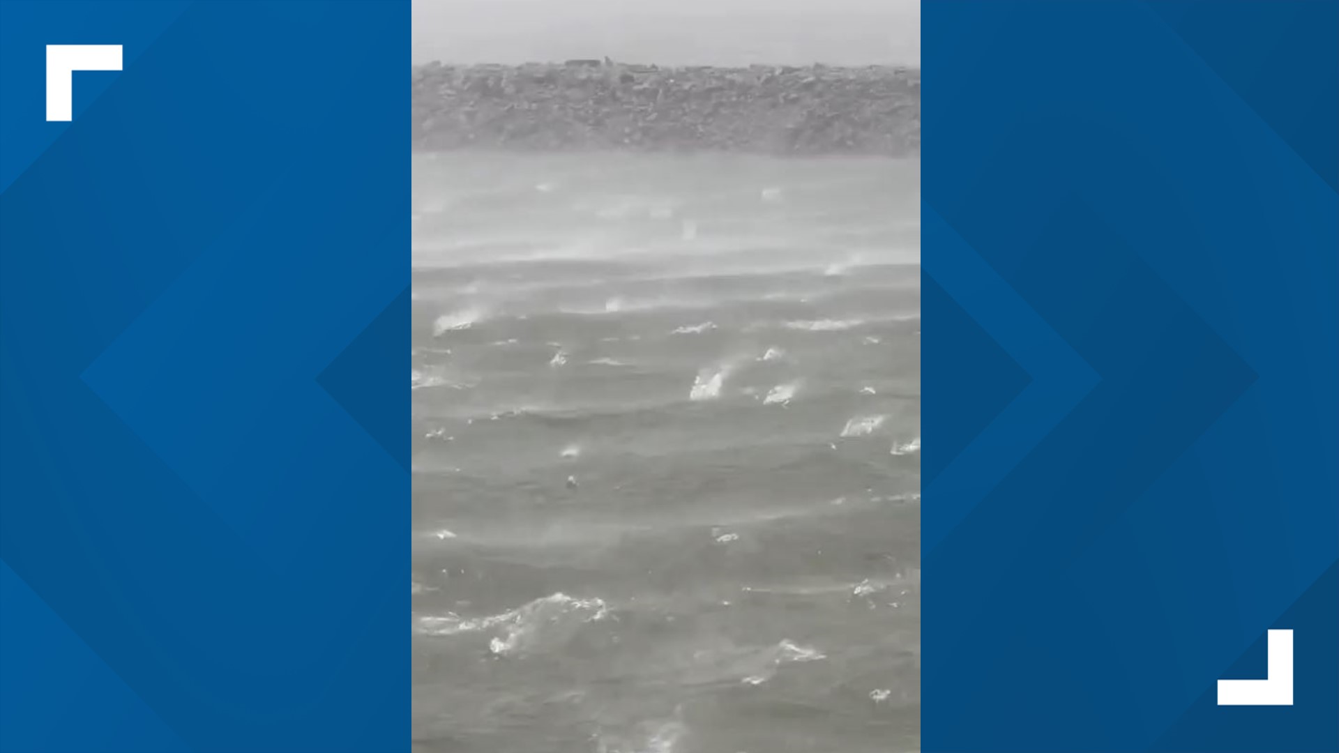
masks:
<instances>
[{"instance_id":1,"label":"blue graphic panel surrounding the upper-left white corner bracket","mask_svg":"<svg viewBox=\"0 0 1339 753\"><path fill-rule=\"evenodd\" d=\"M408 748L408 32L0 3L0 750Z\"/></svg>"}]
</instances>

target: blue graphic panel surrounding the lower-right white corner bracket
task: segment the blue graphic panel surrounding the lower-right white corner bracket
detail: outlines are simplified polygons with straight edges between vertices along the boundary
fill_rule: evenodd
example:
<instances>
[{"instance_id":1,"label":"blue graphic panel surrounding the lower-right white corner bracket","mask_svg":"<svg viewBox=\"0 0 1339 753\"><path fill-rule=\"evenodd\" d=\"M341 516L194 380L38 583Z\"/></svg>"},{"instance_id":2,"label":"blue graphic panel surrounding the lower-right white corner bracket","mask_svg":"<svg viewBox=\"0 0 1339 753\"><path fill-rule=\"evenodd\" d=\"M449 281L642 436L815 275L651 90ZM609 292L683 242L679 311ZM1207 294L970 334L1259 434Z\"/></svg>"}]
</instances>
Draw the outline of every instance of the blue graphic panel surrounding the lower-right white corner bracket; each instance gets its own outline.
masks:
<instances>
[{"instance_id":1,"label":"blue graphic panel surrounding the lower-right white corner bracket","mask_svg":"<svg viewBox=\"0 0 1339 753\"><path fill-rule=\"evenodd\" d=\"M924 750L1339 750L1339 3L923 48Z\"/></svg>"}]
</instances>

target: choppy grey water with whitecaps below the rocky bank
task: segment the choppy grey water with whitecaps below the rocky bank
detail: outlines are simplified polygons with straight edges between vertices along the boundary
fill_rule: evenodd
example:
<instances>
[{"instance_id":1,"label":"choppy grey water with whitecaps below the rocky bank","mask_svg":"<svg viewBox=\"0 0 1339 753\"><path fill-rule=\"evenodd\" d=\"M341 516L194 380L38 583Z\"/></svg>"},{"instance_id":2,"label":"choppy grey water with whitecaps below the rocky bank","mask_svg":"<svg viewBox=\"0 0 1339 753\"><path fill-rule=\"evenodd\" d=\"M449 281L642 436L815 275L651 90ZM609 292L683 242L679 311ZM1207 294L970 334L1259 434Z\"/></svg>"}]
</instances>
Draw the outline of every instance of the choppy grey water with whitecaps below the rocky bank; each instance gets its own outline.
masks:
<instances>
[{"instance_id":1,"label":"choppy grey water with whitecaps below the rocky bank","mask_svg":"<svg viewBox=\"0 0 1339 753\"><path fill-rule=\"evenodd\" d=\"M920 746L920 163L414 157L414 749Z\"/></svg>"}]
</instances>

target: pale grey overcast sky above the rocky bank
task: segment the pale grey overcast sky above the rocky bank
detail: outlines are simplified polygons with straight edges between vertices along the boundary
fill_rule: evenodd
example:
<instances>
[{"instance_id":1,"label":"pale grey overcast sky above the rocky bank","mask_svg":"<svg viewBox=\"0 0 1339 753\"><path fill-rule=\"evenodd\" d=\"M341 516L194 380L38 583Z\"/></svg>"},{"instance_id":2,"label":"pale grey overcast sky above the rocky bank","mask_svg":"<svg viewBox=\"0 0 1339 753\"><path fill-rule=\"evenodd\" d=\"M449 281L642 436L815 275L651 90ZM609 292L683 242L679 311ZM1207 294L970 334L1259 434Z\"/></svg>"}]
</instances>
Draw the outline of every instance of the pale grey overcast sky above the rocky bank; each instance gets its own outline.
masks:
<instances>
[{"instance_id":1,"label":"pale grey overcast sky above the rocky bank","mask_svg":"<svg viewBox=\"0 0 1339 753\"><path fill-rule=\"evenodd\" d=\"M414 62L920 66L919 0L412 0Z\"/></svg>"}]
</instances>

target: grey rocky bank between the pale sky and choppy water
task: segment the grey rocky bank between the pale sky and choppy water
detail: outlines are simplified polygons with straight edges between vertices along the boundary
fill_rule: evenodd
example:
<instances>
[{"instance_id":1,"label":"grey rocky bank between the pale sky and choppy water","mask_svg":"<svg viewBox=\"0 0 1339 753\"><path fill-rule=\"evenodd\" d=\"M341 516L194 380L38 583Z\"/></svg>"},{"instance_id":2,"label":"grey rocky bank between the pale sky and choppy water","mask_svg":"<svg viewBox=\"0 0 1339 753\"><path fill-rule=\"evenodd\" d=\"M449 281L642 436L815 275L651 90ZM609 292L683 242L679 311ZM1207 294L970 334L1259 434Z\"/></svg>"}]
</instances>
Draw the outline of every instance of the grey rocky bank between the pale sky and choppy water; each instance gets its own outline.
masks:
<instances>
[{"instance_id":1,"label":"grey rocky bank between the pale sky and choppy water","mask_svg":"<svg viewBox=\"0 0 1339 753\"><path fill-rule=\"evenodd\" d=\"M414 151L920 154L920 71L605 60L415 66Z\"/></svg>"}]
</instances>

